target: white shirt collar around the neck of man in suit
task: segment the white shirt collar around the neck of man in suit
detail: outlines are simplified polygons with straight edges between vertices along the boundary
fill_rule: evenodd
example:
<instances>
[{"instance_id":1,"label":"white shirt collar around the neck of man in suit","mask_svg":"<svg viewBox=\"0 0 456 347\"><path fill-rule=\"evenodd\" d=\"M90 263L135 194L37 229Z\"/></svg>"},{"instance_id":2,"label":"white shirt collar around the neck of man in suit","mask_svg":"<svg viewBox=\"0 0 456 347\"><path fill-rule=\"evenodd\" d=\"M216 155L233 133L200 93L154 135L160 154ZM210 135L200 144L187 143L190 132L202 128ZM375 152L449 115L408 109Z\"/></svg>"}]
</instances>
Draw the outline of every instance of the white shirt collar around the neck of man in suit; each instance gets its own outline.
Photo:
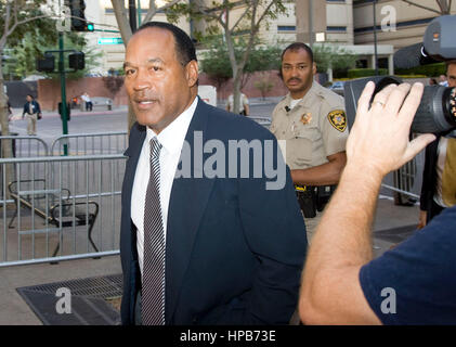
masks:
<instances>
[{"instance_id":1,"label":"white shirt collar around the neck of man in suit","mask_svg":"<svg viewBox=\"0 0 456 347\"><path fill-rule=\"evenodd\" d=\"M195 98L193 103L181 113L170 125L168 125L157 136L154 130L147 127L146 141L151 143L153 138L157 138L158 142L162 147L173 154L182 150L182 143L185 140L186 132L188 130L190 123L192 121L193 115L198 104L198 98Z\"/></svg>"}]
</instances>

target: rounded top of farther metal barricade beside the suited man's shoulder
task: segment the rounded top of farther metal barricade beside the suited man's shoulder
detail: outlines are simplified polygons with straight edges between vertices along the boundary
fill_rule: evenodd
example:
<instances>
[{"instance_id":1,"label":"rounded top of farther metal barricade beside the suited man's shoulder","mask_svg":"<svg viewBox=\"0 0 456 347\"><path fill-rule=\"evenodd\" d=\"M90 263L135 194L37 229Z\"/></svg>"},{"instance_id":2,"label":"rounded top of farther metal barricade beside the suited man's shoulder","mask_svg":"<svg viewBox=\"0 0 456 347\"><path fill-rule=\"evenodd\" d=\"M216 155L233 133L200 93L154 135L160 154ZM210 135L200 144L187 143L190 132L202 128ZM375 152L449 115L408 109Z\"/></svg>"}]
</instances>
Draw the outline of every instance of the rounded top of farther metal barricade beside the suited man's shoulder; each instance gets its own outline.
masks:
<instances>
[{"instance_id":1,"label":"rounded top of farther metal barricade beside the suited man's shoulder","mask_svg":"<svg viewBox=\"0 0 456 347\"><path fill-rule=\"evenodd\" d=\"M127 150L128 132L96 132L64 134L51 145L51 155L121 154Z\"/></svg>"}]
</instances>

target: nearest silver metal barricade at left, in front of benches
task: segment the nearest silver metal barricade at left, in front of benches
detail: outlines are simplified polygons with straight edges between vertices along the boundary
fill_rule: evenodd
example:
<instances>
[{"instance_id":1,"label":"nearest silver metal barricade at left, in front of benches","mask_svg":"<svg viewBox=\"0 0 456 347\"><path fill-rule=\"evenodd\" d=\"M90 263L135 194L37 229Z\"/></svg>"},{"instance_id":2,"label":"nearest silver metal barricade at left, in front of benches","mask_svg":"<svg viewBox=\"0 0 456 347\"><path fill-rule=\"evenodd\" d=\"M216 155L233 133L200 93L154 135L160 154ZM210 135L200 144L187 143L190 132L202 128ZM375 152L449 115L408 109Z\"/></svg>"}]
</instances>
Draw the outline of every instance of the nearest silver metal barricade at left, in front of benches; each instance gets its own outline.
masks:
<instances>
[{"instance_id":1,"label":"nearest silver metal barricade at left, in front of benches","mask_svg":"<svg viewBox=\"0 0 456 347\"><path fill-rule=\"evenodd\" d=\"M0 159L0 267L118 254L125 164L121 154Z\"/></svg>"}]
</instances>

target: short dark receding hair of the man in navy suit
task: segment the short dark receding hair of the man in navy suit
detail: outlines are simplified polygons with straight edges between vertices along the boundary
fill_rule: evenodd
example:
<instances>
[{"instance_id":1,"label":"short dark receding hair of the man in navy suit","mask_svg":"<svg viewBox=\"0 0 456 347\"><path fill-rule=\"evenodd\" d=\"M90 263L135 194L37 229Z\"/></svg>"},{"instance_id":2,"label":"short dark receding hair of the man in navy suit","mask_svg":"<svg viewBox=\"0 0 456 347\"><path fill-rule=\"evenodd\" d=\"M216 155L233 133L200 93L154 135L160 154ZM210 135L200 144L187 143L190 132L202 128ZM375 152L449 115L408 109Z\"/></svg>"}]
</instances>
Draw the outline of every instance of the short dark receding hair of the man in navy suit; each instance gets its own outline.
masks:
<instances>
[{"instance_id":1,"label":"short dark receding hair of the man in navy suit","mask_svg":"<svg viewBox=\"0 0 456 347\"><path fill-rule=\"evenodd\" d=\"M168 31L171 31L175 41L175 55L182 66L185 66L191 61L196 60L195 46L193 44L192 39L184 30L178 28L175 25L164 23L164 22L147 22L141 25L136 33L144 30L146 28L160 28Z\"/></svg>"}]
</instances>

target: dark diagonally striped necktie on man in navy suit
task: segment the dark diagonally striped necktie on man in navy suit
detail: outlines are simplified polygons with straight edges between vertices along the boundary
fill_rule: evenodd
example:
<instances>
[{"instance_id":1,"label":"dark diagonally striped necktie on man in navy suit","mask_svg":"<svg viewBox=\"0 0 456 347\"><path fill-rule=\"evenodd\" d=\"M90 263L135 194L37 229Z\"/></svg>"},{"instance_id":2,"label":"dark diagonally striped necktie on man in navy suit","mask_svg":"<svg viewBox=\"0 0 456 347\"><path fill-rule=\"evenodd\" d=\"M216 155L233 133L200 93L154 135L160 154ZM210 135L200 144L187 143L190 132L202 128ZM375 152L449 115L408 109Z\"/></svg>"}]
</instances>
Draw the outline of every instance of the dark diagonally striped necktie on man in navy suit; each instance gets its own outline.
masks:
<instances>
[{"instance_id":1,"label":"dark diagonally striped necktie on man in navy suit","mask_svg":"<svg viewBox=\"0 0 456 347\"><path fill-rule=\"evenodd\" d=\"M151 176L144 206L144 257L142 274L142 322L165 324L165 231L160 206L160 150L151 140Z\"/></svg>"}]
</instances>

